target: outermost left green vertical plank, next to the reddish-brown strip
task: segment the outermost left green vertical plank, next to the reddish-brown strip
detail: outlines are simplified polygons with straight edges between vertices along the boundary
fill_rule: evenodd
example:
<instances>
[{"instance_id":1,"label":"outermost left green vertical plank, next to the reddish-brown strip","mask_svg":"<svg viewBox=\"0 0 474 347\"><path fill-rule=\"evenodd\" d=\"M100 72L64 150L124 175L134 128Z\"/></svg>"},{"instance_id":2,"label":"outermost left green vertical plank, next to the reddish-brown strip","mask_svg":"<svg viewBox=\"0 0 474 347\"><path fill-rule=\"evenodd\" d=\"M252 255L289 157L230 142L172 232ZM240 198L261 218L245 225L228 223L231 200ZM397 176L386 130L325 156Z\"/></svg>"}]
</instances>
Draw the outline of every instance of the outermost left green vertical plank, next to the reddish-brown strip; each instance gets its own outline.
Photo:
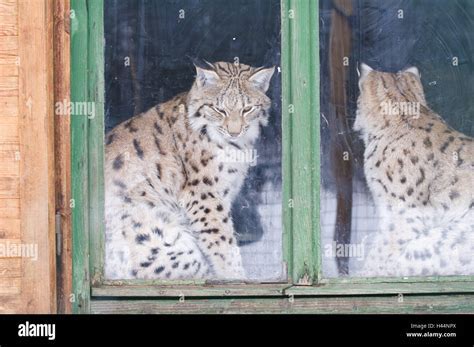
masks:
<instances>
[{"instance_id":1,"label":"outermost left green vertical plank, next to the reddish-brown strip","mask_svg":"<svg viewBox=\"0 0 474 347\"><path fill-rule=\"evenodd\" d=\"M84 102L88 100L86 1L71 0L71 9L75 13L71 18L71 102ZM71 115L71 189L75 206L72 210L75 313L90 312L87 122L87 117Z\"/></svg>"}]
</instances>

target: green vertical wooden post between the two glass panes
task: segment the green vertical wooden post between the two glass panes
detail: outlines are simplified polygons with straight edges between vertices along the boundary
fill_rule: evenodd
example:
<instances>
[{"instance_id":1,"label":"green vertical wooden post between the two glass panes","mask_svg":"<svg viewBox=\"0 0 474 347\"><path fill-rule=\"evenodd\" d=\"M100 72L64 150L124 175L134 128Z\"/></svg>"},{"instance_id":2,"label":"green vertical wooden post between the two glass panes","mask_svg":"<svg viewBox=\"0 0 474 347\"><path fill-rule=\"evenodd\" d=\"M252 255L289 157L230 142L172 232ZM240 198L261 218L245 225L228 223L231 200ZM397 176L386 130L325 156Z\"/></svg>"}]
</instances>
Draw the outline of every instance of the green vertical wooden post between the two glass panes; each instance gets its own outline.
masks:
<instances>
[{"instance_id":1,"label":"green vertical wooden post between the two glass panes","mask_svg":"<svg viewBox=\"0 0 474 347\"><path fill-rule=\"evenodd\" d=\"M318 6L314 1L289 2L291 32L291 160L292 231L295 283L312 284L317 277L318 168L316 166L319 129L318 88Z\"/></svg>"}]
</instances>

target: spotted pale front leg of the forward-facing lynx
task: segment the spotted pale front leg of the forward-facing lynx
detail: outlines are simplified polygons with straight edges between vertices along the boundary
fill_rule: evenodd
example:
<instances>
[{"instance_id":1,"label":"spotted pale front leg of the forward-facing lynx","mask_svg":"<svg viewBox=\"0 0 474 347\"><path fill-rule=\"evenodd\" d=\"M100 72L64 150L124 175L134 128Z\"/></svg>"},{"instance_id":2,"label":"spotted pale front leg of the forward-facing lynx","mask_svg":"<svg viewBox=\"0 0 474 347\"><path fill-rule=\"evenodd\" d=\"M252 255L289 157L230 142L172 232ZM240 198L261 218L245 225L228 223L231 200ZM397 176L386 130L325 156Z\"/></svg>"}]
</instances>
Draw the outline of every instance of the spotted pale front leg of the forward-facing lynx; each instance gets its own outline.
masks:
<instances>
[{"instance_id":1,"label":"spotted pale front leg of the forward-facing lynx","mask_svg":"<svg viewBox=\"0 0 474 347\"><path fill-rule=\"evenodd\" d=\"M200 248L208 258L216 279L245 279L242 257L230 217L230 203L217 193L200 192L187 202L186 210Z\"/></svg>"}]
</instances>

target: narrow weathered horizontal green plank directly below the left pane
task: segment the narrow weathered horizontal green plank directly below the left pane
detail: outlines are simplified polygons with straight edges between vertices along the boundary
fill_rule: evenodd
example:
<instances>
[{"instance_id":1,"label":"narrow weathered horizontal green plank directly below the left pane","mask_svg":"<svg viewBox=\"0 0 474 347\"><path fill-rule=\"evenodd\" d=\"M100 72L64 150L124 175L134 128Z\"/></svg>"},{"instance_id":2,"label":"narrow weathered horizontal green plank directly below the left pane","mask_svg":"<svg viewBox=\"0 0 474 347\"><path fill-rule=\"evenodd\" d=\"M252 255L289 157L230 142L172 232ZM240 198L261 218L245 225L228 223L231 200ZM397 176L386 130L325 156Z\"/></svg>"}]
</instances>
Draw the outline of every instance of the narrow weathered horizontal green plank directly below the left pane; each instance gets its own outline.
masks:
<instances>
[{"instance_id":1,"label":"narrow weathered horizontal green plank directly below the left pane","mask_svg":"<svg viewBox=\"0 0 474 347\"><path fill-rule=\"evenodd\" d=\"M93 296L109 297L238 297L282 296L288 284L241 285L102 285L92 288Z\"/></svg>"}]
</instances>

